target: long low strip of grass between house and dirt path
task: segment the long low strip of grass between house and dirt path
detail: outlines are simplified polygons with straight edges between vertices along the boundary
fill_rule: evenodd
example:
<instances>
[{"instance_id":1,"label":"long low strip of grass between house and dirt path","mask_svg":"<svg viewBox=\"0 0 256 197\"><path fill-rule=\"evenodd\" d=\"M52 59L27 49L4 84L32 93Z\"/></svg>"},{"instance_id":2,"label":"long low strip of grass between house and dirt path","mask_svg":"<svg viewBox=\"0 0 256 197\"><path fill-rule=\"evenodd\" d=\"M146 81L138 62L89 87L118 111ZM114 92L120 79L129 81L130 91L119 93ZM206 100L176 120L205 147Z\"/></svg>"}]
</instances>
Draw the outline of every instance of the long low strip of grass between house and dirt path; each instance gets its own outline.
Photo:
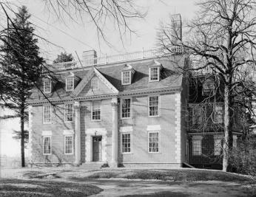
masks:
<instances>
[{"instance_id":1,"label":"long low strip of grass between house and dirt path","mask_svg":"<svg viewBox=\"0 0 256 197\"><path fill-rule=\"evenodd\" d=\"M224 173L217 170L98 170L85 179L158 179L174 182L195 182L195 181L223 181L223 182L252 182L246 176L235 173Z\"/></svg>"}]
</instances>

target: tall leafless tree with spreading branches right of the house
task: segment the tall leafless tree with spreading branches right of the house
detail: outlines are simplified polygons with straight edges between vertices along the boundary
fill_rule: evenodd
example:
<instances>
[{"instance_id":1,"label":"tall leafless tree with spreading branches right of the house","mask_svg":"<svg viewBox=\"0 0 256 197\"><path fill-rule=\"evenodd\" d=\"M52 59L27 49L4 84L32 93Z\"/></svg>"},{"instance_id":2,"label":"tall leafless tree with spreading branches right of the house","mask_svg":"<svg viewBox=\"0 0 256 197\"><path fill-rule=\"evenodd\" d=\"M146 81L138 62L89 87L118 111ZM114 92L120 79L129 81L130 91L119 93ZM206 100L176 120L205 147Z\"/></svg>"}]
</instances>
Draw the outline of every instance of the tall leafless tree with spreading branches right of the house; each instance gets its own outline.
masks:
<instances>
[{"instance_id":1,"label":"tall leafless tree with spreading branches right of the house","mask_svg":"<svg viewBox=\"0 0 256 197\"><path fill-rule=\"evenodd\" d=\"M224 100L223 171L226 171L232 149L235 98L248 91L246 86L252 88L246 79L255 65L256 2L203 0L198 6L198 15L186 25L183 38L172 17L169 24L161 24L158 44L162 52L172 52L173 46L180 46L193 61L188 70L211 73L220 79ZM238 91L238 87L242 89Z\"/></svg>"}]
</instances>

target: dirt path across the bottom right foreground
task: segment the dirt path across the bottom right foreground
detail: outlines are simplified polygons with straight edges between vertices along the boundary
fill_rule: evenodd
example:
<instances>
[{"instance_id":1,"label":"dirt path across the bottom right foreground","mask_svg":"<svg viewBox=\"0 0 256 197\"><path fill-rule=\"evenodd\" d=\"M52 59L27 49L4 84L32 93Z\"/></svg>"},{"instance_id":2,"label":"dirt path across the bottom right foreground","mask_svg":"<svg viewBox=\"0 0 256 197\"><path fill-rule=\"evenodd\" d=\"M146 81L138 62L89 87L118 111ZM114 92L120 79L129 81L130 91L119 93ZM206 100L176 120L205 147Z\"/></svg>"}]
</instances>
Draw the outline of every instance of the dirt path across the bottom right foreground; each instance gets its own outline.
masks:
<instances>
[{"instance_id":1,"label":"dirt path across the bottom right foreground","mask_svg":"<svg viewBox=\"0 0 256 197\"><path fill-rule=\"evenodd\" d=\"M254 196L248 184L233 182L161 182L124 179L94 179L86 184L97 185L103 192L92 196ZM256 195L256 193L255 193Z\"/></svg>"}]
</instances>

